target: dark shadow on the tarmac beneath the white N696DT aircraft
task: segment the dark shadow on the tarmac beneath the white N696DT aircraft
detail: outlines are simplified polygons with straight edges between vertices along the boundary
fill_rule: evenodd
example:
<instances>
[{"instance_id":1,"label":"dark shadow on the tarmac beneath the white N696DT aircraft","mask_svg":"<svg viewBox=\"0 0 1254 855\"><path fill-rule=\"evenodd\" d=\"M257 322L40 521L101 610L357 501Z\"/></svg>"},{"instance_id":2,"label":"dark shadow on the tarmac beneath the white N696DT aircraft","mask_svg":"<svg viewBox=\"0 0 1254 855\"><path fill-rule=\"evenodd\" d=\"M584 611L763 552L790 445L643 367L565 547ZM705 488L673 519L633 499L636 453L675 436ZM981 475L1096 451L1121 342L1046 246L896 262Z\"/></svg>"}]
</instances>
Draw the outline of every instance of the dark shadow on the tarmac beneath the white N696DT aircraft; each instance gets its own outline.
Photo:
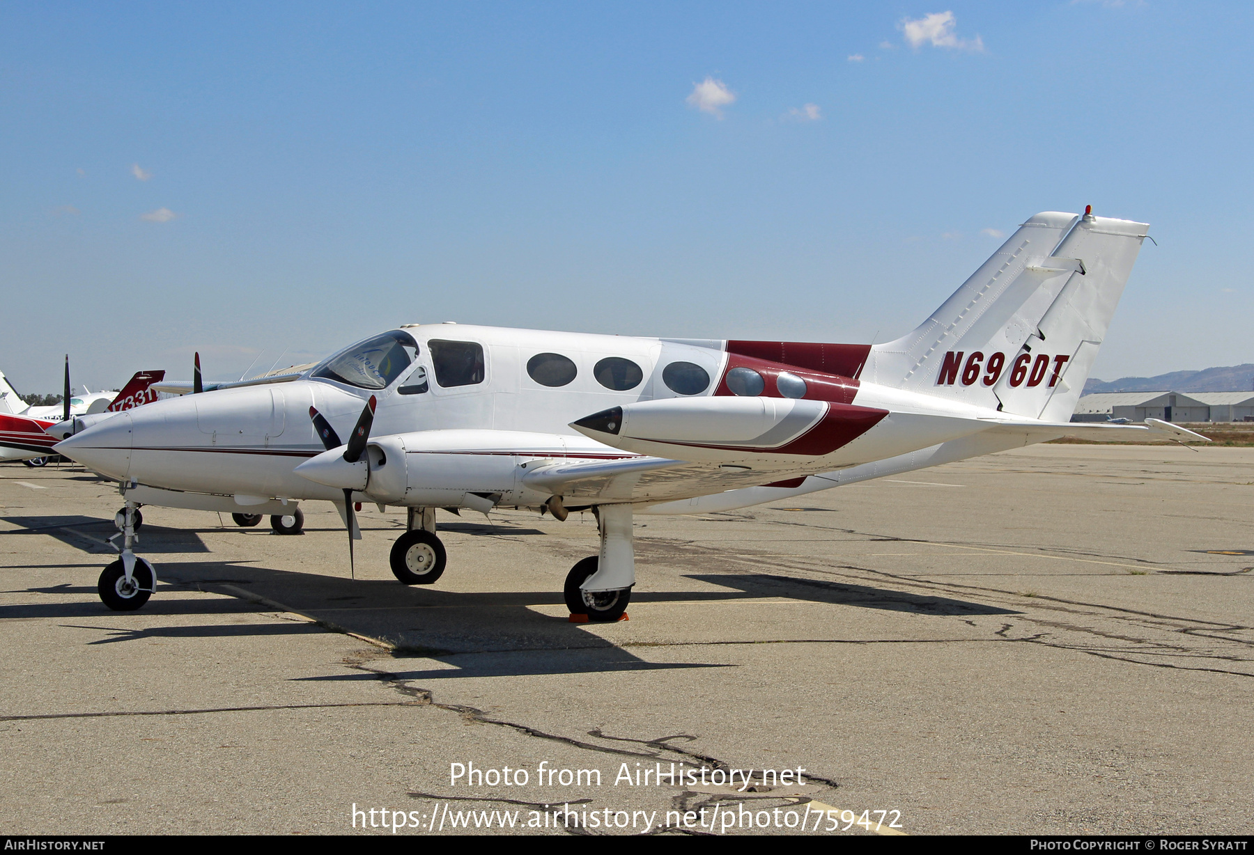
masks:
<instances>
[{"instance_id":1,"label":"dark shadow on the tarmac beneath the white N696DT aircraft","mask_svg":"<svg viewBox=\"0 0 1254 855\"><path fill-rule=\"evenodd\" d=\"M66 518L82 519L82 518ZM44 518L44 525L50 520ZM99 520L92 520L99 522ZM78 523L71 523L78 524ZM48 533L46 529L40 533ZM94 569L94 568L84 568ZM221 616L242 612L268 612L275 604L307 614L325 624L351 633L384 639L396 647L398 661L418 658L430 662L419 669L396 672L403 679L448 679L463 677L543 676L651 671L675 668L727 667L720 663L653 663L618 647L612 636L588 632L584 626L528 607L561 606L562 595L544 590L454 592L428 587L406 587L391 579L350 579L300 570L278 570L250 565L248 562L164 562L158 564L161 584L142 614ZM940 616L1013 614L1014 612L981 603L928 597L818 579L770 574L692 574L688 578L716 588L714 590L641 592L637 603L716 602L760 597L782 597L838 606L912 612ZM110 616L103 604L83 595L93 593L89 584L65 583L30 588L56 598L76 602L36 602L0 607L3 618L88 618L93 623ZM229 584L236 590L223 590ZM246 590L258 599L238 595L213 598L178 597L177 592L204 590L237 594ZM174 595L172 595L174 594ZM93 621L94 619L94 621ZM277 626L250 623L231 626L173 626L147 629L122 629L102 624L107 638L89 643L117 643L153 637L247 637L321 632L315 624ZM608 629L608 632L613 632ZM443 662L445 667L431 667ZM377 679L372 673L317 677L316 679ZM315 679L315 678L310 678Z\"/></svg>"}]
</instances>

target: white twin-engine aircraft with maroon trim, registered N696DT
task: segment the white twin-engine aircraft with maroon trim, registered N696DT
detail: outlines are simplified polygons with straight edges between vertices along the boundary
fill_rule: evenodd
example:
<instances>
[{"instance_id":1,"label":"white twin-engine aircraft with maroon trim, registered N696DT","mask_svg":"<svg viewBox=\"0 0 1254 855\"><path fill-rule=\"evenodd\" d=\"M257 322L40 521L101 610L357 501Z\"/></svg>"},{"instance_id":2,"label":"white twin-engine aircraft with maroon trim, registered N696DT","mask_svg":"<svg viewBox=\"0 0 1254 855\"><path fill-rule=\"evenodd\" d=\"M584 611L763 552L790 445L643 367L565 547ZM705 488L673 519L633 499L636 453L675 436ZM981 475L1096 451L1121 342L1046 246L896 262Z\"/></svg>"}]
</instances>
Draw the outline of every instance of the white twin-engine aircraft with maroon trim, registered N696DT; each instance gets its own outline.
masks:
<instances>
[{"instance_id":1,"label":"white twin-engine aircraft with maroon trim, registered N696DT","mask_svg":"<svg viewBox=\"0 0 1254 855\"><path fill-rule=\"evenodd\" d=\"M1040 213L917 330L884 345L636 338L408 325L298 379L261 379L123 412L56 451L123 484L125 548L100 597L155 585L130 545L157 504L271 513L405 506L405 584L444 572L436 508L592 509L598 555L566 579L572 614L621 618L632 518L775 501L1065 435L1144 431L1068 419L1147 226ZM1189 434L1156 422L1149 429ZM345 443L344 439L347 439ZM258 517L260 519L260 517Z\"/></svg>"}]
</instances>

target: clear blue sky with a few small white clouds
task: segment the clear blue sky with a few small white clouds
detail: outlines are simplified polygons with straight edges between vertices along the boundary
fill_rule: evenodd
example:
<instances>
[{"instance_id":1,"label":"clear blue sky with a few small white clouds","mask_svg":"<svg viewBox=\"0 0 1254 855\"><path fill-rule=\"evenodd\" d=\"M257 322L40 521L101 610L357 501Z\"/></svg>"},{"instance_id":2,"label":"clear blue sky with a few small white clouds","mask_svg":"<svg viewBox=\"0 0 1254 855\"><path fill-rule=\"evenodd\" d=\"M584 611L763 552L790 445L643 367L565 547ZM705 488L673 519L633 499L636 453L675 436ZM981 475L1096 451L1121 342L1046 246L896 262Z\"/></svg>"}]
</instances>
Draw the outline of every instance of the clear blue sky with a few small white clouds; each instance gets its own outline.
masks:
<instances>
[{"instance_id":1,"label":"clear blue sky with a few small white clouds","mask_svg":"<svg viewBox=\"0 0 1254 855\"><path fill-rule=\"evenodd\" d=\"M984 229L1088 203L1159 241L1095 376L1254 361L1251 31L1152 0L8 3L0 370L229 377L445 320L885 341Z\"/></svg>"}]
</instances>

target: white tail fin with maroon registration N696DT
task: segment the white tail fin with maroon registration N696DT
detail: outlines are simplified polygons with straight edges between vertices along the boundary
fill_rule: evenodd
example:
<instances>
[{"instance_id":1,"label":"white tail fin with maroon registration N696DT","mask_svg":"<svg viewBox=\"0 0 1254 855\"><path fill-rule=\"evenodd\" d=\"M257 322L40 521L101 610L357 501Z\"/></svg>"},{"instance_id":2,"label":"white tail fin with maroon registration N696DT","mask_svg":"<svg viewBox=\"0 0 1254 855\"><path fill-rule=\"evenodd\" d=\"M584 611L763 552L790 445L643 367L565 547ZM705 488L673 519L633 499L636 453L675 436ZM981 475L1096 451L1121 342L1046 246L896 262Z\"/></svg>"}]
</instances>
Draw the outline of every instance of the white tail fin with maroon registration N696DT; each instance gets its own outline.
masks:
<instances>
[{"instance_id":1,"label":"white tail fin with maroon registration N696DT","mask_svg":"<svg viewBox=\"0 0 1254 855\"><path fill-rule=\"evenodd\" d=\"M872 382L1066 421L1149 226L1040 213L917 330L872 349Z\"/></svg>"}]
</instances>

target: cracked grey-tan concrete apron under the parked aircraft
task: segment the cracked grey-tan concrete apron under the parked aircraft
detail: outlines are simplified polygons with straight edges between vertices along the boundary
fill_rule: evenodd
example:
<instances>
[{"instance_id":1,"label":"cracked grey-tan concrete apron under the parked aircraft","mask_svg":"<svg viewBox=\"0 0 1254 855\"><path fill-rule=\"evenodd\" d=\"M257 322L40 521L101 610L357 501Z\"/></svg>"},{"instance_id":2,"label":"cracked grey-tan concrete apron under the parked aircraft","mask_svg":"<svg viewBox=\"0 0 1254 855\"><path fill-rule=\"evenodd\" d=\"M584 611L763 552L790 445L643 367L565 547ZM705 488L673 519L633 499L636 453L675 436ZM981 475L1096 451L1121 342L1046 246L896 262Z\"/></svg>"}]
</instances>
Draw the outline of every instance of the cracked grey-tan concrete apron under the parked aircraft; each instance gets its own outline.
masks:
<instances>
[{"instance_id":1,"label":"cracked grey-tan concrete apron under the parked aircraft","mask_svg":"<svg viewBox=\"0 0 1254 855\"><path fill-rule=\"evenodd\" d=\"M0 466L5 832L810 800L923 834L1251 830L1254 450L1037 446L642 517L631 621L609 626L568 623L559 593L591 517L441 513L426 589L387 570L404 515L361 514L351 580L314 504L297 538L145 508L162 584L112 613L118 504L75 468ZM538 782L542 762L602 786ZM658 762L810 786L613 785Z\"/></svg>"}]
</instances>

